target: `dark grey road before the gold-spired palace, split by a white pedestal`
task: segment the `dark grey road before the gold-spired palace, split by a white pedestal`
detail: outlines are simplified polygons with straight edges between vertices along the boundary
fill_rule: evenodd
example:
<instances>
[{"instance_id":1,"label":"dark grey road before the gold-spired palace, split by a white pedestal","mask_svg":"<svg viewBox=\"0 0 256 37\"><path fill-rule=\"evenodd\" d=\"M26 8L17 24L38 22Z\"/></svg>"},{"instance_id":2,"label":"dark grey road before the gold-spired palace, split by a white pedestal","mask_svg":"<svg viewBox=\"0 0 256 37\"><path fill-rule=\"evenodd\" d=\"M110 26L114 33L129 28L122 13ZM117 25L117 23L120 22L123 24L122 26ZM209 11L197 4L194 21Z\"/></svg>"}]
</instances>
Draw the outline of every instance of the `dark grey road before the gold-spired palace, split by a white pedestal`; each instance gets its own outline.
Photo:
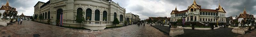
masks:
<instances>
[{"instance_id":1,"label":"dark grey road before the gold-spired palace, split by a white pedestal","mask_svg":"<svg viewBox=\"0 0 256 37\"><path fill-rule=\"evenodd\" d=\"M153 25L154 27L164 31L165 33L170 32L170 28L168 26L162 25ZM169 31L168 31L169 30ZM232 28L223 28L214 30L192 30L192 29L184 29L184 34L177 35L178 37L235 37L237 35L231 32Z\"/></svg>"}]
</instances>

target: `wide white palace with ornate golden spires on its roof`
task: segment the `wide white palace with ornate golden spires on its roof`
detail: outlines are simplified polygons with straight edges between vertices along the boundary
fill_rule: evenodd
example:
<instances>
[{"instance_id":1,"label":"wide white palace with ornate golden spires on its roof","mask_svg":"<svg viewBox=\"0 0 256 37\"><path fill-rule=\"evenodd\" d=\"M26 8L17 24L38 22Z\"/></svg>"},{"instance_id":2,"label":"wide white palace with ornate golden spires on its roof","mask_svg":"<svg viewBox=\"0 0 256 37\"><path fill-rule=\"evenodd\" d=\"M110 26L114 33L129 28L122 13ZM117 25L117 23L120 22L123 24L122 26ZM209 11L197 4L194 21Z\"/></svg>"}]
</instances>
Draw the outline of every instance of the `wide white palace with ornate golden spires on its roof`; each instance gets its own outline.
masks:
<instances>
[{"instance_id":1,"label":"wide white palace with ornate golden spires on its roof","mask_svg":"<svg viewBox=\"0 0 256 37\"><path fill-rule=\"evenodd\" d=\"M187 17L185 17L185 15ZM171 22L176 22L178 19L185 17L185 25L189 22L196 22L196 25L204 25L205 23L226 23L226 11L220 6L216 9L201 9L201 5L196 4L196 1L192 5L188 6L188 9L178 11L177 8L171 12ZM183 17L182 17L183 16ZM219 16L219 19L215 19L215 16ZM191 24L189 24L191 25Z\"/></svg>"}]
</instances>

